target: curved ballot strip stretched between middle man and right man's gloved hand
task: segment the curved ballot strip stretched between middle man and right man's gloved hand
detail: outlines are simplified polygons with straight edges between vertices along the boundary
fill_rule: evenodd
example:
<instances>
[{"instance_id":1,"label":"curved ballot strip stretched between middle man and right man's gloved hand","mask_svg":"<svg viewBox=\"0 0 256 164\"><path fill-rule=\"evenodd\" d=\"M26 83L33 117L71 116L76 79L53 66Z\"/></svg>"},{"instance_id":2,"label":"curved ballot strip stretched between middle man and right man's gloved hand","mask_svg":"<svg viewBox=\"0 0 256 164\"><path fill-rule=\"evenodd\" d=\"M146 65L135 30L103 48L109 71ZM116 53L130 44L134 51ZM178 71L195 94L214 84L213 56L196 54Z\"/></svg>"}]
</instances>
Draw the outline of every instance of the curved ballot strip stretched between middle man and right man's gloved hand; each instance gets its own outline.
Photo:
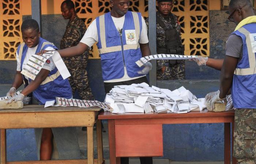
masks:
<instances>
[{"instance_id":1,"label":"curved ballot strip stretched between middle man and right man's gloved hand","mask_svg":"<svg viewBox=\"0 0 256 164\"><path fill-rule=\"evenodd\" d=\"M147 63L149 60L153 60L153 59L173 59L173 60L177 60L177 59L191 59L191 58L196 58L197 56L195 55L174 55L174 54L157 54L157 55L150 55L150 56L145 56L140 58L136 64L141 67L143 66L145 63Z\"/></svg>"}]
</instances>

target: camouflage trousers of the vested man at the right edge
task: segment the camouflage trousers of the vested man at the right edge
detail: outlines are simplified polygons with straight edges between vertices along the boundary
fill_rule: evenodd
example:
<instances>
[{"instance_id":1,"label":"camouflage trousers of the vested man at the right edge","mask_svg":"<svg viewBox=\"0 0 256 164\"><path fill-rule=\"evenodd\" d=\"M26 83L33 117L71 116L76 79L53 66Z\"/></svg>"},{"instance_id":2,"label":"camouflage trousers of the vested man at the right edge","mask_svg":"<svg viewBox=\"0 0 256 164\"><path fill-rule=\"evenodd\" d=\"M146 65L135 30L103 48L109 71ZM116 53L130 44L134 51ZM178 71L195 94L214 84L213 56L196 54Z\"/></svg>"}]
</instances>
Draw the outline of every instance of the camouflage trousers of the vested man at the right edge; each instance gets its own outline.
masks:
<instances>
[{"instance_id":1,"label":"camouflage trousers of the vested man at the right edge","mask_svg":"<svg viewBox=\"0 0 256 164\"><path fill-rule=\"evenodd\" d=\"M237 109L234 153L238 164L256 164L256 109Z\"/></svg>"}]
</instances>

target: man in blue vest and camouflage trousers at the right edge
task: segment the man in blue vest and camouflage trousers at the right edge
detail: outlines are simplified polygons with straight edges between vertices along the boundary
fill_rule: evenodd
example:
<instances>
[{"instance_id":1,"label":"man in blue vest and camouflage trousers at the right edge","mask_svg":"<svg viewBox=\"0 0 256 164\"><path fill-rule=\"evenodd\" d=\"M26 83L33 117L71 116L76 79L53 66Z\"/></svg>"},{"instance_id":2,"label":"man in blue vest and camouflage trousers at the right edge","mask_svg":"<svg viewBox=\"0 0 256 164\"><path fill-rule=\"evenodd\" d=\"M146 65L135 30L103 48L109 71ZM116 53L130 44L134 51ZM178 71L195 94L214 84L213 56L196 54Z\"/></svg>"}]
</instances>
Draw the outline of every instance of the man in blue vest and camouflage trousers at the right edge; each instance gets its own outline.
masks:
<instances>
[{"instance_id":1,"label":"man in blue vest and camouflage trousers at the right edge","mask_svg":"<svg viewBox=\"0 0 256 164\"><path fill-rule=\"evenodd\" d=\"M228 19L237 24L226 44L219 93L208 103L225 101L231 89L235 112L234 154L238 164L256 163L256 16L250 0L230 0Z\"/></svg>"}]
</instances>

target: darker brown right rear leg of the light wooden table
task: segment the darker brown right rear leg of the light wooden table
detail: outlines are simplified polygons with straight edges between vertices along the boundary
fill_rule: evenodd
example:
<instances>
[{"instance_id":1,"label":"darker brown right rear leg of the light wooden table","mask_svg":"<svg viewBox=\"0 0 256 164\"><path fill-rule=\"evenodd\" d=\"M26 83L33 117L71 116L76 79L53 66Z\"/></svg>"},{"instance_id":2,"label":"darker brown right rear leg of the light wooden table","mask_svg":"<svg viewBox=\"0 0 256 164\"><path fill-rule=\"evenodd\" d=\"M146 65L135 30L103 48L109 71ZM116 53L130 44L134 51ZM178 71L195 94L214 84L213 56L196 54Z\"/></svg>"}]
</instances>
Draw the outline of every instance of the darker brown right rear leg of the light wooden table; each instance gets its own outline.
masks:
<instances>
[{"instance_id":1,"label":"darker brown right rear leg of the light wooden table","mask_svg":"<svg viewBox=\"0 0 256 164\"><path fill-rule=\"evenodd\" d=\"M97 152L98 152L98 164L103 163L103 148L102 148L102 130L101 120L96 121L97 124Z\"/></svg>"}]
</instances>

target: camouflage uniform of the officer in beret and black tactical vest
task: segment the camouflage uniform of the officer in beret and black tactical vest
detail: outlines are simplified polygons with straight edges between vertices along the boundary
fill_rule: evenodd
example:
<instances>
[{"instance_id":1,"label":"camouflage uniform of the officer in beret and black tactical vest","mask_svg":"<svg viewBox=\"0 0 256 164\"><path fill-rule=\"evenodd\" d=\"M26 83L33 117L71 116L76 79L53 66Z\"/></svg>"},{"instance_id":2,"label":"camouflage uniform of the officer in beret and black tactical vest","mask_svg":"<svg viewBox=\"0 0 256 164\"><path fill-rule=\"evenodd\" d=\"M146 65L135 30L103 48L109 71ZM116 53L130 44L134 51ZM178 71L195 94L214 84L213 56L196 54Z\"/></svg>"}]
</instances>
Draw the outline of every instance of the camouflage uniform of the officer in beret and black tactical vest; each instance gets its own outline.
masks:
<instances>
[{"instance_id":1,"label":"camouflage uniform of the officer in beret and black tactical vest","mask_svg":"<svg viewBox=\"0 0 256 164\"><path fill-rule=\"evenodd\" d=\"M172 29L172 22L170 17L165 19L159 12L156 13L165 24L167 28ZM172 13L173 14L173 13ZM180 34L181 26L178 24L177 16L174 15L176 21L176 30ZM146 19L146 24L148 26L148 19ZM181 39L181 37L180 37ZM166 36L165 30L157 23L157 47L166 48ZM162 73L162 68L165 67L165 71ZM177 63L173 66L170 66L169 60L157 60L157 79L158 80L176 80L185 78L185 60L182 60L181 63Z\"/></svg>"}]
</instances>

